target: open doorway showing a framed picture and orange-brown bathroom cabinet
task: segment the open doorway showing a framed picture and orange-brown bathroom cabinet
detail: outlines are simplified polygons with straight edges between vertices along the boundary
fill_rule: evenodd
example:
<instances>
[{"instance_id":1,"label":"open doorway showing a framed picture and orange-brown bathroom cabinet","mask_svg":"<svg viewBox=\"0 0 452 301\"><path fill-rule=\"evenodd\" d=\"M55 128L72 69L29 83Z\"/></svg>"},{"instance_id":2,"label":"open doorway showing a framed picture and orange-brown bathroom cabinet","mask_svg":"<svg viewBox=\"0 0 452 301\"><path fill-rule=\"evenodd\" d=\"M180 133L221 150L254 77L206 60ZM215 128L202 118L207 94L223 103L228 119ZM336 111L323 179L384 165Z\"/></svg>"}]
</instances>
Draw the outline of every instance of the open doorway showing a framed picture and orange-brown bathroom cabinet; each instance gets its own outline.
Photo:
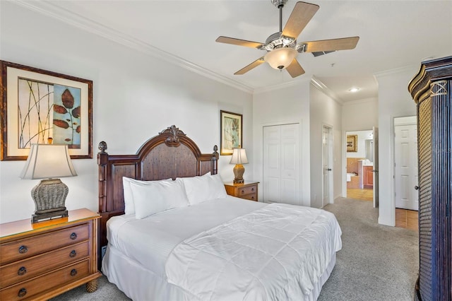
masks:
<instances>
[{"instance_id":1,"label":"open doorway showing a framed picture and orange-brown bathroom cabinet","mask_svg":"<svg viewBox=\"0 0 452 301\"><path fill-rule=\"evenodd\" d=\"M374 131L347 131L346 135L347 198L374 201Z\"/></svg>"}]
</instances>

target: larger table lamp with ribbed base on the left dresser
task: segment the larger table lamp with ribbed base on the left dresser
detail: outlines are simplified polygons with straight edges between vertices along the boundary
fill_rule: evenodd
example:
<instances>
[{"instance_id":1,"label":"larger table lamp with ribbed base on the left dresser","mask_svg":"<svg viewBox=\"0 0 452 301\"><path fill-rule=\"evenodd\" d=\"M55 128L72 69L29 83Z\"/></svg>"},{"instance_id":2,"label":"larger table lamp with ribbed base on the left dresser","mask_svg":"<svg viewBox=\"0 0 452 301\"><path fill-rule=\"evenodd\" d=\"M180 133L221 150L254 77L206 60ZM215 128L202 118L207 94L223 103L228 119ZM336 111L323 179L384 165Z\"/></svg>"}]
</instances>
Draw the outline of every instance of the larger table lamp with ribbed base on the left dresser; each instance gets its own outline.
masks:
<instances>
[{"instance_id":1,"label":"larger table lamp with ribbed base on the left dresser","mask_svg":"<svg viewBox=\"0 0 452 301\"><path fill-rule=\"evenodd\" d=\"M31 190L35 201L32 223L68 216L64 202L69 189L58 177L74 177L68 146L65 144L32 144L22 179L42 179Z\"/></svg>"}]
</instances>

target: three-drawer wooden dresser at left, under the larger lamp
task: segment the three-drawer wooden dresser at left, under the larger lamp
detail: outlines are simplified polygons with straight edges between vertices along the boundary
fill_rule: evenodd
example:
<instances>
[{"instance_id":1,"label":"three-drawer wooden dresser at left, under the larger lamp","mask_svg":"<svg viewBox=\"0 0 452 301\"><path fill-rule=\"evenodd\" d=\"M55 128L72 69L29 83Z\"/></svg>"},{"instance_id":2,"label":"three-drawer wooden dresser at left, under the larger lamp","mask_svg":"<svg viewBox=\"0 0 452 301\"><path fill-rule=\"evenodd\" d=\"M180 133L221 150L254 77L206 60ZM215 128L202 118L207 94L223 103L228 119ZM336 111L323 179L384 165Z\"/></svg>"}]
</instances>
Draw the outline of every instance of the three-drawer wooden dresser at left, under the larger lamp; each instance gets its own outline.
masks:
<instances>
[{"instance_id":1,"label":"three-drawer wooden dresser at left, under the larger lamp","mask_svg":"<svg viewBox=\"0 0 452 301\"><path fill-rule=\"evenodd\" d=\"M48 300L86 283L97 289L97 220L88 209L32 224L0 225L0 300Z\"/></svg>"}]
</instances>

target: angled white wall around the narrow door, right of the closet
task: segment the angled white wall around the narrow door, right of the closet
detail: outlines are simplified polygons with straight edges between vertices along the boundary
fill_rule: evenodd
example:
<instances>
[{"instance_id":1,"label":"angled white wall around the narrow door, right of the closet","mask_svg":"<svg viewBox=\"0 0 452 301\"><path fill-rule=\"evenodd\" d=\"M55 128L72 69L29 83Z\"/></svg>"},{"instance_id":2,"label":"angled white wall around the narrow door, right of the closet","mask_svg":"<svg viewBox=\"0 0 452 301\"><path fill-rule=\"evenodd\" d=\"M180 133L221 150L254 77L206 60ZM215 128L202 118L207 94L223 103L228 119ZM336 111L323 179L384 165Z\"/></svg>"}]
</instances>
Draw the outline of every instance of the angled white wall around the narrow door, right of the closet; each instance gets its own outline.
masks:
<instances>
[{"instance_id":1,"label":"angled white wall around the narrow door, right of the closet","mask_svg":"<svg viewBox=\"0 0 452 301\"><path fill-rule=\"evenodd\" d=\"M333 199L341 193L342 166L342 113L343 107L316 85L311 85L309 134L311 143L311 207L322 207L323 167L322 167L322 129L333 129Z\"/></svg>"}]
</instances>

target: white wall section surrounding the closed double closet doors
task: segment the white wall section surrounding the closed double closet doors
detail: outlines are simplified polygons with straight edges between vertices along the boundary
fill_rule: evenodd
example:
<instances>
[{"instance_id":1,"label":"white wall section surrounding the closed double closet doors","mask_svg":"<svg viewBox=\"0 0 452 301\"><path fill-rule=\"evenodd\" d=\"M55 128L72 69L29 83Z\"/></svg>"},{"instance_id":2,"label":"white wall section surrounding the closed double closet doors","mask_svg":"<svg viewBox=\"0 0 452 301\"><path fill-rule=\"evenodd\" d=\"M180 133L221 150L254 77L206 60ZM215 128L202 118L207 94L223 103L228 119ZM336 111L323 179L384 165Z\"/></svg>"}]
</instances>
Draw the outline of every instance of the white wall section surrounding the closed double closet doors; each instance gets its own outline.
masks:
<instances>
[{"instance_id":1,"label":"white wall section surrounding the closed double closet doors","mask_svg":"<svg viewBox=\"0 0 452 301\"><path fill-rule=\"evenodd\" d=\"M309 78L284 89L268 90L254 93L253 97L253 137L254 137L254 180L263 182L263 126L275 124L300 124L299 165L300 201L303 206L310 206L309 175ZM259 189L262 199L263 189Z\"/></svg>"}]
</instances>

